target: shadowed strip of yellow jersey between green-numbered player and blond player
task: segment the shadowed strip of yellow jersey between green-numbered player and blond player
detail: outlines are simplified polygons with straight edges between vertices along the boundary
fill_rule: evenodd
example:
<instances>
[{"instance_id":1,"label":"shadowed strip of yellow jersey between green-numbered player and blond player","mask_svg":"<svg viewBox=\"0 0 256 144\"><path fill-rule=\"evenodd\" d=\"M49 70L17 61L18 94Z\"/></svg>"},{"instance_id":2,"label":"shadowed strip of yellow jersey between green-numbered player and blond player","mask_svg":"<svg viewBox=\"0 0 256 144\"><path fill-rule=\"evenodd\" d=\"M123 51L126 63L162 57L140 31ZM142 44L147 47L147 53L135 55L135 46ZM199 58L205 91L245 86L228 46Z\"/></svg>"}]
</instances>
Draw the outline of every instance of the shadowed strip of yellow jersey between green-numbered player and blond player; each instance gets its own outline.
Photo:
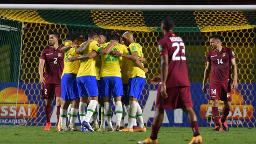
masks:
<instances>
[{"instance_id":1,"label":"shadowed strip of yellow jersey between green-numbered player and blond player","mask_svg":"<svg viewBox=\"0 0 256 144\"><path fill-rule=\"evenodd\" d=\"M120 64L121 74L122 74L122 83L127 84L128 79L129 79L129 74L130 74L129 67L128 67L128 61L131 61L131 60L129 60L125 57L120 57L120 58L122 58L122 61L121 61L121 64Z\"/></svg>"}]
</instances>

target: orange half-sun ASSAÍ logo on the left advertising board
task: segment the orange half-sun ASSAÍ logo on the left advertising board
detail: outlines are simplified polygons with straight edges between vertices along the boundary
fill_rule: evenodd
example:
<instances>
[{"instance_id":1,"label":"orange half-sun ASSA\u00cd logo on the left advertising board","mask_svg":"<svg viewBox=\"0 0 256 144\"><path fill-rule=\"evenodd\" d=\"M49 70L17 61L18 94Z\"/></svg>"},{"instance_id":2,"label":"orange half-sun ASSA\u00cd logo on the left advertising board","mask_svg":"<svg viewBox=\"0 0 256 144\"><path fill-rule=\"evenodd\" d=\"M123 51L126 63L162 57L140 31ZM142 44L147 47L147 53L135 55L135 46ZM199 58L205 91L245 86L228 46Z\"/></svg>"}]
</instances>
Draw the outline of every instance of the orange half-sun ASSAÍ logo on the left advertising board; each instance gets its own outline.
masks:
<instances>
[{"instance_id":1,"label":"orange half-sun ASSA\u00cd logo on the left advertising board","mask_svg":"<svg viewBox=\"0 0 256 144\"><path fill-rule=\"evenodd\" d=\"M27 95L22 90L17 89L16 87L7 87L0 92L0 118L15 117L37 117L37 105L30 104Z\"/></svg>"}]
</instances>

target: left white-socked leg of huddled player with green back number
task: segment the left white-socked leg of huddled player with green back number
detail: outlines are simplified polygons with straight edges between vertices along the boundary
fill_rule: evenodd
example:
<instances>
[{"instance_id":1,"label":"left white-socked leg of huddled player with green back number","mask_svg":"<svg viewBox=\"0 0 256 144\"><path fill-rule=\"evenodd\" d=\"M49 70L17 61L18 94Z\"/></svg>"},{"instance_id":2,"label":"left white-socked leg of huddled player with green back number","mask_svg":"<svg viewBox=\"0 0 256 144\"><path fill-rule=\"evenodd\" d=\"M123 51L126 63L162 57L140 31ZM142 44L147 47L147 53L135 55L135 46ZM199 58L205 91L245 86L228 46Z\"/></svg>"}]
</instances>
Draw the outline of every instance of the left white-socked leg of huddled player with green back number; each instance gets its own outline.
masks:
<instances>
[{"instance_id":1,"label":"left white-socked leg of huddled player with green back number","mask_svg":"<svg viewBox=\"0 0 256 144\"><path fill-rule=\"evenodd\" d=\"M113 125L111 122L111 105L110 105L110 100L111 97L104 97L103 96L103 101L104 101L104 114L105 114L105 119L106 122L108 123L108 131L113 131Z\"/></svg>"}]
</instances>

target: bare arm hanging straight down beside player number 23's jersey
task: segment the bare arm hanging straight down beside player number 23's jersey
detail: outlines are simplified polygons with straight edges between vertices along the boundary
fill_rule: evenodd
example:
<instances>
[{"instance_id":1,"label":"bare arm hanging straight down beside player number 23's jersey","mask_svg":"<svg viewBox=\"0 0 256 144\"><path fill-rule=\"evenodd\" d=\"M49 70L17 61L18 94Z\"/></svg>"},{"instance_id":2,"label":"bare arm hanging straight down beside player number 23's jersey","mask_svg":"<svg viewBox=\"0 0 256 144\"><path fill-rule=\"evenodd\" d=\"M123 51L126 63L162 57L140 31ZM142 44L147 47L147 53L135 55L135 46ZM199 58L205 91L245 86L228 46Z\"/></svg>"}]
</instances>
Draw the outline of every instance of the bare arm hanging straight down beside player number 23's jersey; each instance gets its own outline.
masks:
<instances>
[{"instance_id":1,"label":"bare arm hanging straight down beside player number 23's jersey","mask_svg":"<svg viewBox=\"0 0 256 144\"><path fill-rule=\"evenodd\" d=\"M162 54L161 55L161 96L163 98L167 98L167 93L166 93L166 80L167 80L167 74L168 74L168 55L167 54Z\"/></svg>"}]
</instances>

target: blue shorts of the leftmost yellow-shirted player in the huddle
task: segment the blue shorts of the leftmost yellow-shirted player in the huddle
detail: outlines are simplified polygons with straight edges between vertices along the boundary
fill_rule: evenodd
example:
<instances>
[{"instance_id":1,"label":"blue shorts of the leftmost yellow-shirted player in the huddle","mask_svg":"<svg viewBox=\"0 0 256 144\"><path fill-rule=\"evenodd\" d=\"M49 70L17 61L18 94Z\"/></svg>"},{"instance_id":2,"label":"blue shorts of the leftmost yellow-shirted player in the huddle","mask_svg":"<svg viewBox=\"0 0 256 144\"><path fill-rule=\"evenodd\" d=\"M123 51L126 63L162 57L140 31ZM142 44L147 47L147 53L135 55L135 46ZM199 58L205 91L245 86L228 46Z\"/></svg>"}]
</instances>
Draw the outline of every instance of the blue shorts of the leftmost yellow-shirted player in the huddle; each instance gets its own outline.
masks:
<instances>
[{"instance_id":1,"label":"blue shorts of the leftmost yellow-shirted player in the huddle","mask_svg":"<svg viewBox=\"0 0 256 144\"><path fill-rule=\"evenodd\" d=\"M76 74L64 74L61 78L61 98L65 101L79 98Z\"/></svg>"}]
</instances>

